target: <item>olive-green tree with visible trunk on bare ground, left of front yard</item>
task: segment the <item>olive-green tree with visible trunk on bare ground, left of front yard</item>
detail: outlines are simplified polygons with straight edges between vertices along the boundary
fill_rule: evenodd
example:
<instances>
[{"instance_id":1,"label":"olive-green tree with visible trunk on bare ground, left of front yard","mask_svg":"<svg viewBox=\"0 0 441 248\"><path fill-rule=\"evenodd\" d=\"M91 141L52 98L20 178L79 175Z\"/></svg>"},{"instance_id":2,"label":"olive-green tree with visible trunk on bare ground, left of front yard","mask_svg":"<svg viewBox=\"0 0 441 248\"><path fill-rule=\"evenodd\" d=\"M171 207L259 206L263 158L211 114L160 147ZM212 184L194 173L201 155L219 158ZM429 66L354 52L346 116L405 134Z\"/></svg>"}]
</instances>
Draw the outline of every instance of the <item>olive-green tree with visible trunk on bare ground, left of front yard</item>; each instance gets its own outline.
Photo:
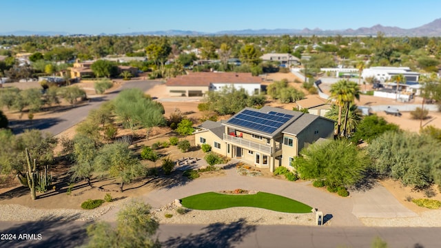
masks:
<instances>
[{"instance_id":1,"label":"olive-green tree with visible trunk on bare ground, left of front yard","mask_svg":"<svg viewBox=\"0 0 441 248\"><path fill-rule=\"evenodd\" d=\"M145 174L145 168L134 156L127 143L116 142L103 145L94 159L98 172L121 180L119 190L123 192L124 183Z\"/></svg>"}]
</instances>

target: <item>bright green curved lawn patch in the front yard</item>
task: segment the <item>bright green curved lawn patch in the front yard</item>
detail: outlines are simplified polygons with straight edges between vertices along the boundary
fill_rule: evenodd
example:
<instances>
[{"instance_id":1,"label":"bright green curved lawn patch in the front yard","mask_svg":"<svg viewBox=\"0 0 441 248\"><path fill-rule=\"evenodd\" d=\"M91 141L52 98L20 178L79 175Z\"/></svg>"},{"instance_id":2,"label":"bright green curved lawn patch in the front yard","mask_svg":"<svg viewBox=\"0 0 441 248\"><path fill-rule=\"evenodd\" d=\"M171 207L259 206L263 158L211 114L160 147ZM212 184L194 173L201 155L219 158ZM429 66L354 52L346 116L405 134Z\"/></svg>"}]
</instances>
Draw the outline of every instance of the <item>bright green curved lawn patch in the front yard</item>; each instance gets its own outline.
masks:
<instances>
[{"instance_id":1,"label":"bright green curved lawn patch in the front yard","mask_svg":"<svg viewBox=\"0 0 441 248\"><path fill-rule=\"evenodd\" d=\"M216 210L228 207L260 207L284 213L310 213L312 207L284 196L258 192L257 194L229 195L207 192L182 199L189 209Z\"/></svg>"}]
</instances>

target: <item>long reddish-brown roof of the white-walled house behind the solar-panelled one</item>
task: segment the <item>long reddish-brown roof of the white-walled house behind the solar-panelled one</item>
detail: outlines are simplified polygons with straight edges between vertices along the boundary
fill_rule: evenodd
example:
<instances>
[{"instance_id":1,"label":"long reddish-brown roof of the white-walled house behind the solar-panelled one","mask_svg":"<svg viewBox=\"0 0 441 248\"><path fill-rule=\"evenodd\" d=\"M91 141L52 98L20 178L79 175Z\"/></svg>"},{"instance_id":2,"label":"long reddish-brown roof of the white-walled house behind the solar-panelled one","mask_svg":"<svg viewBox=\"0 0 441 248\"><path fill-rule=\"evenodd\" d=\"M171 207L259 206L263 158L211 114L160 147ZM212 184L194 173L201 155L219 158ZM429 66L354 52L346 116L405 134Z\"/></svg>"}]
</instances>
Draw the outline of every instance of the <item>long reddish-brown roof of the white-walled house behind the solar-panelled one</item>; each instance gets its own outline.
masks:
<instances>
[{"instance_id":1,"label":"long reddish-brown roof of the white-walled house behind the solar-panelled one","mask_svg":"<svg viewBox=\"0 0 441 248\"><path fill-rule=\"evenodd\" d=\"M194 72L169 79L167 86L209 86L210 83L260 83L262 79L251 73Z\"/></svg>"}]
</instances>

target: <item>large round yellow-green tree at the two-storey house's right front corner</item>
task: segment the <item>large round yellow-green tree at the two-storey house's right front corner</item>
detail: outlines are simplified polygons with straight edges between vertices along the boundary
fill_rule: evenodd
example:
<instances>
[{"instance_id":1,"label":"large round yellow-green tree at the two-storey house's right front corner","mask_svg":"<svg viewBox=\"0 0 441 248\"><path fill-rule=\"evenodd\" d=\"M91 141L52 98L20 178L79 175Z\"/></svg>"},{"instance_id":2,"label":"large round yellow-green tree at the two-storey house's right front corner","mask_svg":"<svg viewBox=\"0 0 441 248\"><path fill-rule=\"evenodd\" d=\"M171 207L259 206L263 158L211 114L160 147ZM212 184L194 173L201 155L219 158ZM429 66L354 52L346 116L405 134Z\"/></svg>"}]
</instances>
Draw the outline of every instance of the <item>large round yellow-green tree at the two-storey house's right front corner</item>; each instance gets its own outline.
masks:
<instances>
[{"instance_id":1,"label":"large round yellow-green tree at the two-storey house's right front corner","mask_svg":"<svg viewBox=\"0 0 441 248\"><path fill-rule=\"evenodd\" d=\"M302 149L293 165L301 178L324 180L330 187L356 185L369 166L369 157L346 139Z\"/></svg>"}]
</instances>

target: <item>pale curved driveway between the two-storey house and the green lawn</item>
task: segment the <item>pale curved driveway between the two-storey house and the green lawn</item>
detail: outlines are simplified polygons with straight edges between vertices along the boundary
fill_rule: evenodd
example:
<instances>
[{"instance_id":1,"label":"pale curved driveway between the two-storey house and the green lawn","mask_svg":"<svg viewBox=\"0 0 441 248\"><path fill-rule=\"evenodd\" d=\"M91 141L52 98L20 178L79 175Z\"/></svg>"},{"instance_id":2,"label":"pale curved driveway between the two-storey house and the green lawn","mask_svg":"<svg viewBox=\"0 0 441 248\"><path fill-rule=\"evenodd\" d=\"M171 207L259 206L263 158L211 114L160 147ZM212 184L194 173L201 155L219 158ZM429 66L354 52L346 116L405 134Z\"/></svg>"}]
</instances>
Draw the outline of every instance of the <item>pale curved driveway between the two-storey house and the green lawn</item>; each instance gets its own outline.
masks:
<instances>
[{"instance_id":1,"label":"pale curved driveway between the two-storey house and the green lawn","mask_svg":"<svg viewBox=\"0 0 441 248\"><path fill-rule=\"evenodd\" d=\"M225 169L225 176L196 179L183 185L163 187L145 194L141 199L153 208L159 208L172 203L174 199L193 194L238 188L268 192L299 200L318 208L318 211L323 211L325 215L331 215L329 224L332 226L363 226L358 218L367 216L379 218L416 216L415 213L403 207L382 186L376 186L367 192L351 192L350 197L343 198L327 192L324 188L313 187L309 181L290 182L276 178L240 176L234 166ZM102 219L114 220L114 213L118 210L112 209L102 216Z\"/></svg>"}]
</instances>

